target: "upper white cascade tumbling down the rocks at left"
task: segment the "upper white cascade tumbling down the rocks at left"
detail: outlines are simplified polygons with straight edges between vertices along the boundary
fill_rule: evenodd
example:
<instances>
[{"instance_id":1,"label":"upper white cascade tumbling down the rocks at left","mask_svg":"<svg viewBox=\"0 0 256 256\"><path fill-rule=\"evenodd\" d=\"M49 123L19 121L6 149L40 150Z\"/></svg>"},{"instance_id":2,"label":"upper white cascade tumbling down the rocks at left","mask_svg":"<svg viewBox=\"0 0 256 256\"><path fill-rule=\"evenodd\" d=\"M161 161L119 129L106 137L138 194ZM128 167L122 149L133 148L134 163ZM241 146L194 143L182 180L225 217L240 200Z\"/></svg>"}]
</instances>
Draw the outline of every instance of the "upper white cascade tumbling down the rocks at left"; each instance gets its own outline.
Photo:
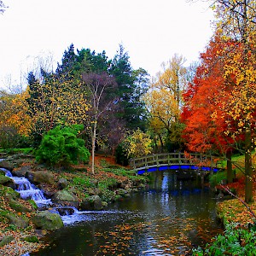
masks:
<instances>
[{"instance_id":1,"label":"upper white cascade tumbling down the rocks at left","mask_svg":"<svg viewBox=\"0 0 256 256\"><path fill-rule=\"evenodd\" d=\"M1 168L1 170L5 172L5 176L13 179L16 186L15 190L20 193L22 199L32 199L39 208L47 207L52 204L51 200L46 199L44 193L34 184L30 183L26 177L14 177L7 169Z\"/></svg>"}]
</instances>

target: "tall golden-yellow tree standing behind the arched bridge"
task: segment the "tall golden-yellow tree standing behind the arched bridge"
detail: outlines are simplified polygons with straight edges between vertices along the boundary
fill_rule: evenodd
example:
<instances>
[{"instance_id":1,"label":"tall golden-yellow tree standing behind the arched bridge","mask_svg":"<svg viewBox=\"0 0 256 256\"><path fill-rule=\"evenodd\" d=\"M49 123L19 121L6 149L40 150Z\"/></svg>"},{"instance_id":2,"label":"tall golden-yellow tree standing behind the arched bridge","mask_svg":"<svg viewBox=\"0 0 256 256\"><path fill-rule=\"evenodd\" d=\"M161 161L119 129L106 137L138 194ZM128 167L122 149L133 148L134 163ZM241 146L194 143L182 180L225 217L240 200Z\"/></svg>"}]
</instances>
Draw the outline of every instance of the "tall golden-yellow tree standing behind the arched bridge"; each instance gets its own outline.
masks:
<instances>
[{"instance_id":1,"label":"tall golden-yellow tree standing behind the arched bridge","mask_svg":"<svg viewBox=\"0 0 256 256\"><path fill-rule=\"evenodd\" d=\"M166 137L165 144L169 152L180 150L183 144L183 124L180 123L179 117L187 73L187 69L183 67L184 61L182 55L175 54L170 61L163 63L163 72L153 79L145 96L151 131L159 137L161 148L164 147L162 137Z\"/></svg>"}]
</instances>

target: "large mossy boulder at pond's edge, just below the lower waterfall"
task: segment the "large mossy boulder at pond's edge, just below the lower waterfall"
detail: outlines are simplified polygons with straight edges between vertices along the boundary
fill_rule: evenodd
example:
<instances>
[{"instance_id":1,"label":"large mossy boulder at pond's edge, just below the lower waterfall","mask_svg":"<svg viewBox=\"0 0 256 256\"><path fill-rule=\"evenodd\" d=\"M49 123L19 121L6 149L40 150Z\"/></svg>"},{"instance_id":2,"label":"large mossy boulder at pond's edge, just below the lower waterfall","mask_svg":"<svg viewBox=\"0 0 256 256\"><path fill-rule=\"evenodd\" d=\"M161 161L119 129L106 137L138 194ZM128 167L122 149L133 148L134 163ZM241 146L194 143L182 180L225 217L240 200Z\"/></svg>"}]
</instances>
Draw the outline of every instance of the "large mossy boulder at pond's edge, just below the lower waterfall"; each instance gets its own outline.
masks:
<instances>
[{"instance_id":1,"label":"large mossy boulder at pond's edge, just below the lower waterfall","mask_svg":"<svg viewBox=\"0 0 256 256\"><path fill-rule=\"evenodd\" d=\"M61 216L49 211L38 212L31 221L37 229L41 230L57 230L64 226Z\"/></svg>"}]
</instances>

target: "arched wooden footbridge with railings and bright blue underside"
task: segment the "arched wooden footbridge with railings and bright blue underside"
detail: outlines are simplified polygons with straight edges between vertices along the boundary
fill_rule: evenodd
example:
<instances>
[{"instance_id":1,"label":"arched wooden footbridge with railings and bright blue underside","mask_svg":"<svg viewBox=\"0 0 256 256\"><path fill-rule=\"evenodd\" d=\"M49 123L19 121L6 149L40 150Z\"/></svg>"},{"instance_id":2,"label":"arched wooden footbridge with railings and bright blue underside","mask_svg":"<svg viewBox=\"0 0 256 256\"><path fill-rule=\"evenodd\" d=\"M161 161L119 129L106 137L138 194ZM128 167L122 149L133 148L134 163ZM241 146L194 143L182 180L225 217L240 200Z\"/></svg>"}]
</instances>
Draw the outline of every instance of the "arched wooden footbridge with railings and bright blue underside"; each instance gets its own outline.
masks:
<instances>
[{"instance_id":1,"label":"arched wooden footbridge with railings and bright blue underside","mask_svg":"<svg viewBox=\"0 0 256 256\"><path fill-rule=\"evenodd\" d=\"M130 166L137 174L163 170L195 170L218 172L218 159L205 154L150 154L130 160Z\"/></svg>"}]
</instances>

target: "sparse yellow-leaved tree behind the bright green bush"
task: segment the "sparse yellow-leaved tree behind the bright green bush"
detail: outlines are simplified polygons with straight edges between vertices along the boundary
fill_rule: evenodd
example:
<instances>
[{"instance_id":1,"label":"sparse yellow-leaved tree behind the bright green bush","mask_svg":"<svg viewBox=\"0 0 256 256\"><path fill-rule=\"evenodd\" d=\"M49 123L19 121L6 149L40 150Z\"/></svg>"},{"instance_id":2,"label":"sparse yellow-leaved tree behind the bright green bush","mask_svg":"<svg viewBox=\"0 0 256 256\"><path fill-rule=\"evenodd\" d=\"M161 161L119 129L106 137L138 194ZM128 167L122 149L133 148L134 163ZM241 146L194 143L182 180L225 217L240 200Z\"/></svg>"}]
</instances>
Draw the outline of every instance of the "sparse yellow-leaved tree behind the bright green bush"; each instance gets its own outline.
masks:
<instances>
[{"instance_id":1,"label":"sparse yellow-leaved tree behind the bright green bush","mask_svg":"<svg viewBox=\"0 0 256 256\"><path fill-rule=\"evenodd\" d=\"M81 84L73 80L45 73L42 70L42 81L33 73L28 75L28 113L32 119L33 137L38 146L44 132L56 125L83 124L87 119L89 104Z\"/></svg>"}]
</instances>

